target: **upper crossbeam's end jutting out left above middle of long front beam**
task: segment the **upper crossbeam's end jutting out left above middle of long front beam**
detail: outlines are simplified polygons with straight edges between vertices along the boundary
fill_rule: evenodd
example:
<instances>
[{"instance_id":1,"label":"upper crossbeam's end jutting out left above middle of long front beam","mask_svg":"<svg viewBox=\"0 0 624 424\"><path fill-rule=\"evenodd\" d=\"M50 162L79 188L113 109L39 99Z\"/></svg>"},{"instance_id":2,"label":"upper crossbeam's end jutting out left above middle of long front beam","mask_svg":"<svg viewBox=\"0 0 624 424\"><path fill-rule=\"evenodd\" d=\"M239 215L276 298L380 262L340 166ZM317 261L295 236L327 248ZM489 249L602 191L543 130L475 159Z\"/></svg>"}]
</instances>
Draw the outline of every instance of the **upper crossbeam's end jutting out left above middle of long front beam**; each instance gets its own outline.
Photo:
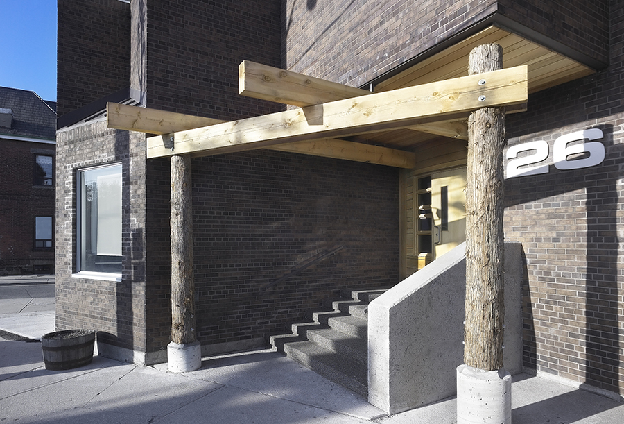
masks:
<instances>
[{"instance_id":1,"label":"upper crossbeam's end jutting out left above middle of long front beam","mask_svg":"<svg viewBox=\"0 0 624 424\"><path fill-rule=\"evenodd\" d=\"M304 107L371 92L243 60L239 65L239 94Z\"/></svg>"}]
</instances>

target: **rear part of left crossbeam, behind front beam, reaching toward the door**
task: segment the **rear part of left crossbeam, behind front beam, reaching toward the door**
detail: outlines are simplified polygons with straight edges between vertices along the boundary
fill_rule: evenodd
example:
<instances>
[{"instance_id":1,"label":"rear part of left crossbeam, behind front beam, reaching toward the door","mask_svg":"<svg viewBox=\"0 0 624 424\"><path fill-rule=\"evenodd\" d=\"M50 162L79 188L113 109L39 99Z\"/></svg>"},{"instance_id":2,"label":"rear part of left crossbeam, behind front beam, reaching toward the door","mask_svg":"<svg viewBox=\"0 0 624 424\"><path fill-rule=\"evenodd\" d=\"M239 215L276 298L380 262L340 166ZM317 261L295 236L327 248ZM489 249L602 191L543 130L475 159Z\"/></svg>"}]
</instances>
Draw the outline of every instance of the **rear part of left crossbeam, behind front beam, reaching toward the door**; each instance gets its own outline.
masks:
<instances>
[{"instance_id":1,"label":"rear part of left crossbeam, behind front beam, reaching toward the door","mask_svg":"<svg viewBox=\"0 0 624 424\"><path fill-rule=\"evenodd\" d=\"M412 169L416 166L416 154L413 152L347 142L341 139L320 139L311 142L278 144L277 146L272 146L271 150L304 153L306 155L322 156L323 158L354 160L355 162L367 162L406 169Z\"/></svg>"}]
</instances>

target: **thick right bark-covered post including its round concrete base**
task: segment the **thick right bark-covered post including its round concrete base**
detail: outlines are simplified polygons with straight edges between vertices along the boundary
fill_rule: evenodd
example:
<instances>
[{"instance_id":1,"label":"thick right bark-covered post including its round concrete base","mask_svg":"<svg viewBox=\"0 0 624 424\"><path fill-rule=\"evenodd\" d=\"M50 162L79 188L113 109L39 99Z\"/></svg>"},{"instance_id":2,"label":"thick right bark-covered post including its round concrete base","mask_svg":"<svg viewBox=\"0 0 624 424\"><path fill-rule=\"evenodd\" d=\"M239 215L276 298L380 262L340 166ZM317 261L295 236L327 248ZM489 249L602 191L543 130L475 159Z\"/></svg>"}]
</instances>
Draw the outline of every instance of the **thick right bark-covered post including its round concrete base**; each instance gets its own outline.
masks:
<instances>
[{"instance_id":1,"label":"thick right bark-covered post including its round concrete base","mask_svg":"<svg viewBox=\"0 0 624 424\"><path fill-rule=\"evenodd\" d=\"M469 74L503 67L497 44L470 52ZM487 85L487 80L480 80ZM458 424L511 423L511 376L503 369L503 146L505 111L482 108L468 119L466 321L457 370Z\"/></svg>"}]
</instances>

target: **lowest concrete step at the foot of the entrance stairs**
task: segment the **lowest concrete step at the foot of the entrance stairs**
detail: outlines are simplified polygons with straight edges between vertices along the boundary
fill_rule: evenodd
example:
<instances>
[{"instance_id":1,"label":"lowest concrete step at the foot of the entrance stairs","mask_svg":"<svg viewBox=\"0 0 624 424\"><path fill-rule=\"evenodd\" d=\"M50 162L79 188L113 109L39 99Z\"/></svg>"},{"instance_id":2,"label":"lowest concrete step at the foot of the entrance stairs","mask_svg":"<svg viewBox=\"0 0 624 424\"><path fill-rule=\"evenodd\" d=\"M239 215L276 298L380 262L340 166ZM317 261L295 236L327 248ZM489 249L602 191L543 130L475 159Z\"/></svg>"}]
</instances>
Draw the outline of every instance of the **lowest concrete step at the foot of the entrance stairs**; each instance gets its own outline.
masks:
<instances>
[{"instance_id":1,"label":"lowest concrete step at the foot of the entrance stairs","mask_svg":"<svg viewBox=\"0 0 624 424\"><path fill-rule=\"evenodd\" d=\"M284 351L306 368L367 398L368 369L353 359L338 355L313 341L288 343L284 345Z\"/></svg>"}]
</instances>

